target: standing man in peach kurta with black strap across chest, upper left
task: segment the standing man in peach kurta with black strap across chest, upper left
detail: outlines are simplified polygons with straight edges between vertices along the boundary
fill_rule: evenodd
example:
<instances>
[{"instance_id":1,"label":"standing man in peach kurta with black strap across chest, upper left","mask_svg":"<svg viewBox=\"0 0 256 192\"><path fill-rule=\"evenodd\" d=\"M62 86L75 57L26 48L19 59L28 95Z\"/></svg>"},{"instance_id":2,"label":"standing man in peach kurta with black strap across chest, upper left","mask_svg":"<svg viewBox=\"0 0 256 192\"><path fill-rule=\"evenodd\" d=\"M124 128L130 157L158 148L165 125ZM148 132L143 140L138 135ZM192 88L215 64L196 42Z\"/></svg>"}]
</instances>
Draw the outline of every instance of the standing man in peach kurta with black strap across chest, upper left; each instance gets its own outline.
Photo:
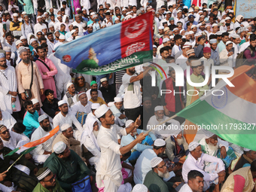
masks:
<instances>
[{"instance_id":1,"label":"standing man in peach kurta with black strap across chest, upper left","mask_svg":"<svg viewBox=\"0 0 256 192\"><path fill-rule=\"evenodd\" d=\"M22 61L16 67L16 74L21 99L26 101L27 99L36 98L42 105L40 95L44 94L44 84L38 66L30 60L29 52L26 49L20 50L20 58ZM31 98L28 98L29 94L27 92L29 89L32 93Z\"/></svg>"}]
</instances>

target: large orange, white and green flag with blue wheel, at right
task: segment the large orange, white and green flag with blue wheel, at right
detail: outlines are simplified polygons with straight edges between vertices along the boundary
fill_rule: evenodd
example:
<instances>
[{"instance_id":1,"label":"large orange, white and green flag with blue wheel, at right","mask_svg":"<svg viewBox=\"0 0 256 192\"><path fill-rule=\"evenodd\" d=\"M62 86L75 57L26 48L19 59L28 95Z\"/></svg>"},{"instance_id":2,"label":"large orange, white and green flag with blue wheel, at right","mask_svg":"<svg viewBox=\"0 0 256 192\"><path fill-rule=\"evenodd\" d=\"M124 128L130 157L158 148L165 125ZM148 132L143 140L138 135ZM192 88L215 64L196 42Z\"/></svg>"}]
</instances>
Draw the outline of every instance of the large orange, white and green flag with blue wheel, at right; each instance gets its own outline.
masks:
<instances>
[{"instance_id":1,"label":"large orange, white and green flag with blue wheel, at right","mask_svg":"<svg viewBox=\"0 0 256 192\"><path fill-rule=\"evenodd\" d=\"M256 151L256 82L245 74L253 68L235 69L233 77L229 78L235 87L221 80L206 96L188 105L177 116L228 142Z\"/></svg>"}]
</instances>

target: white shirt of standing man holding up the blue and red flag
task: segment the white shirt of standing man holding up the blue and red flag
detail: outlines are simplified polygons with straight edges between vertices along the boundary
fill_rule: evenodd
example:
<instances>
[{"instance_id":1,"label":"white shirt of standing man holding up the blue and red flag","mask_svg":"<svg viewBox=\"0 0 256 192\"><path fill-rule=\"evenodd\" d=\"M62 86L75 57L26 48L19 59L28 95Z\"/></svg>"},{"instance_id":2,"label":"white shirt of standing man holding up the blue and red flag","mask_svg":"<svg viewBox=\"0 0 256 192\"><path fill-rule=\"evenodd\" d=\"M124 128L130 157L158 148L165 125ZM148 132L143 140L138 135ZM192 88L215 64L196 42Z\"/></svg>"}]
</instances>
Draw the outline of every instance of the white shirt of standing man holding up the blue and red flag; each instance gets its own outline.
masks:
<instances>
[{"instance_id":1,"label":"white shirt of standing man holding up the blue and red flag","mask_svg":"<svg viewBox=\"0 0 256 192\"><path fill-rule=\"evenodd\" d=\"M137 75L124 74L122 81L124 87L123 107L138 108L142 104L142 93L140 81L130 83L130 79Z\"/></svg>"}]
</instances>

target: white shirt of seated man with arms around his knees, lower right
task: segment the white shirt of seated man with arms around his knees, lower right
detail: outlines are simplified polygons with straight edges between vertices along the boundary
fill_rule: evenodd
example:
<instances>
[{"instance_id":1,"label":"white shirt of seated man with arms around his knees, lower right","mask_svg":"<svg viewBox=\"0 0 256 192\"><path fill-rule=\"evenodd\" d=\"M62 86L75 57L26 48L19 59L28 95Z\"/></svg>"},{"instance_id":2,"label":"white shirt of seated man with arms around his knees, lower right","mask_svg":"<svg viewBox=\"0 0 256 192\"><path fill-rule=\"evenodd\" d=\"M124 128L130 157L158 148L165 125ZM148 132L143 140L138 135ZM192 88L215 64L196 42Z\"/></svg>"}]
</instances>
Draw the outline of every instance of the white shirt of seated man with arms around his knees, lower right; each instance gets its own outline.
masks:
<instances>
[{"instance_id":1,"label":"white shirt of seated man with arms around his knees, lower right","mask_svg":"<svg viewBox=\"0 0 256 192\"><path fill-rule=\"evenodd\" d=\"M190 170L197 170L199 172L202 172L204 181L214 181L216 178L218 178L218 173L207 173L203 171L205 162L217 162L220 172L225 170L223 161L217 157L212 157L208 154L202 153L201 157L196 160L189 153L187 155L187 159L184 161L184 164L182 166L182 178L184 179L185 183L187 183L187 174L188 172L190 172Z\"/></svg>"}]
</instances>

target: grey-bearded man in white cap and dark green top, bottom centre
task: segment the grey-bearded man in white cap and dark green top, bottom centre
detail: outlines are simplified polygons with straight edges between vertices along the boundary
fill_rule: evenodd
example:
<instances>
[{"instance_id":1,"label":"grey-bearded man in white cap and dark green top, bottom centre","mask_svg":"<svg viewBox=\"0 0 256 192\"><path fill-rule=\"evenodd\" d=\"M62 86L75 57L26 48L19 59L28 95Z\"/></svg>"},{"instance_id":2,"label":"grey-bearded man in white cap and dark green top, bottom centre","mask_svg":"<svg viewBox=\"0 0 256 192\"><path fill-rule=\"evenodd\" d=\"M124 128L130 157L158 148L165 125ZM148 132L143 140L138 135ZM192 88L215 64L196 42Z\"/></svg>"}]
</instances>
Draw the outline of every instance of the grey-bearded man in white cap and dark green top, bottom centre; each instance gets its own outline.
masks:
<instances>
[{"instance_id":1,"label":"grey-bearded man in white cap and dark green top, bottom centre","mask_svg":"<svg viewBox=\"0 0 256 192\"><path fill-rule=\"evenodd\" d=\"M154 157L151 160L151 170L145 176L143 184L148 187L148 190L154 192L172 191L175 192L175 187L178 187L179 182L171 183L163 181L163 178L169 178L169 172L161 157Z\"/></svg>"}]
</instances>

